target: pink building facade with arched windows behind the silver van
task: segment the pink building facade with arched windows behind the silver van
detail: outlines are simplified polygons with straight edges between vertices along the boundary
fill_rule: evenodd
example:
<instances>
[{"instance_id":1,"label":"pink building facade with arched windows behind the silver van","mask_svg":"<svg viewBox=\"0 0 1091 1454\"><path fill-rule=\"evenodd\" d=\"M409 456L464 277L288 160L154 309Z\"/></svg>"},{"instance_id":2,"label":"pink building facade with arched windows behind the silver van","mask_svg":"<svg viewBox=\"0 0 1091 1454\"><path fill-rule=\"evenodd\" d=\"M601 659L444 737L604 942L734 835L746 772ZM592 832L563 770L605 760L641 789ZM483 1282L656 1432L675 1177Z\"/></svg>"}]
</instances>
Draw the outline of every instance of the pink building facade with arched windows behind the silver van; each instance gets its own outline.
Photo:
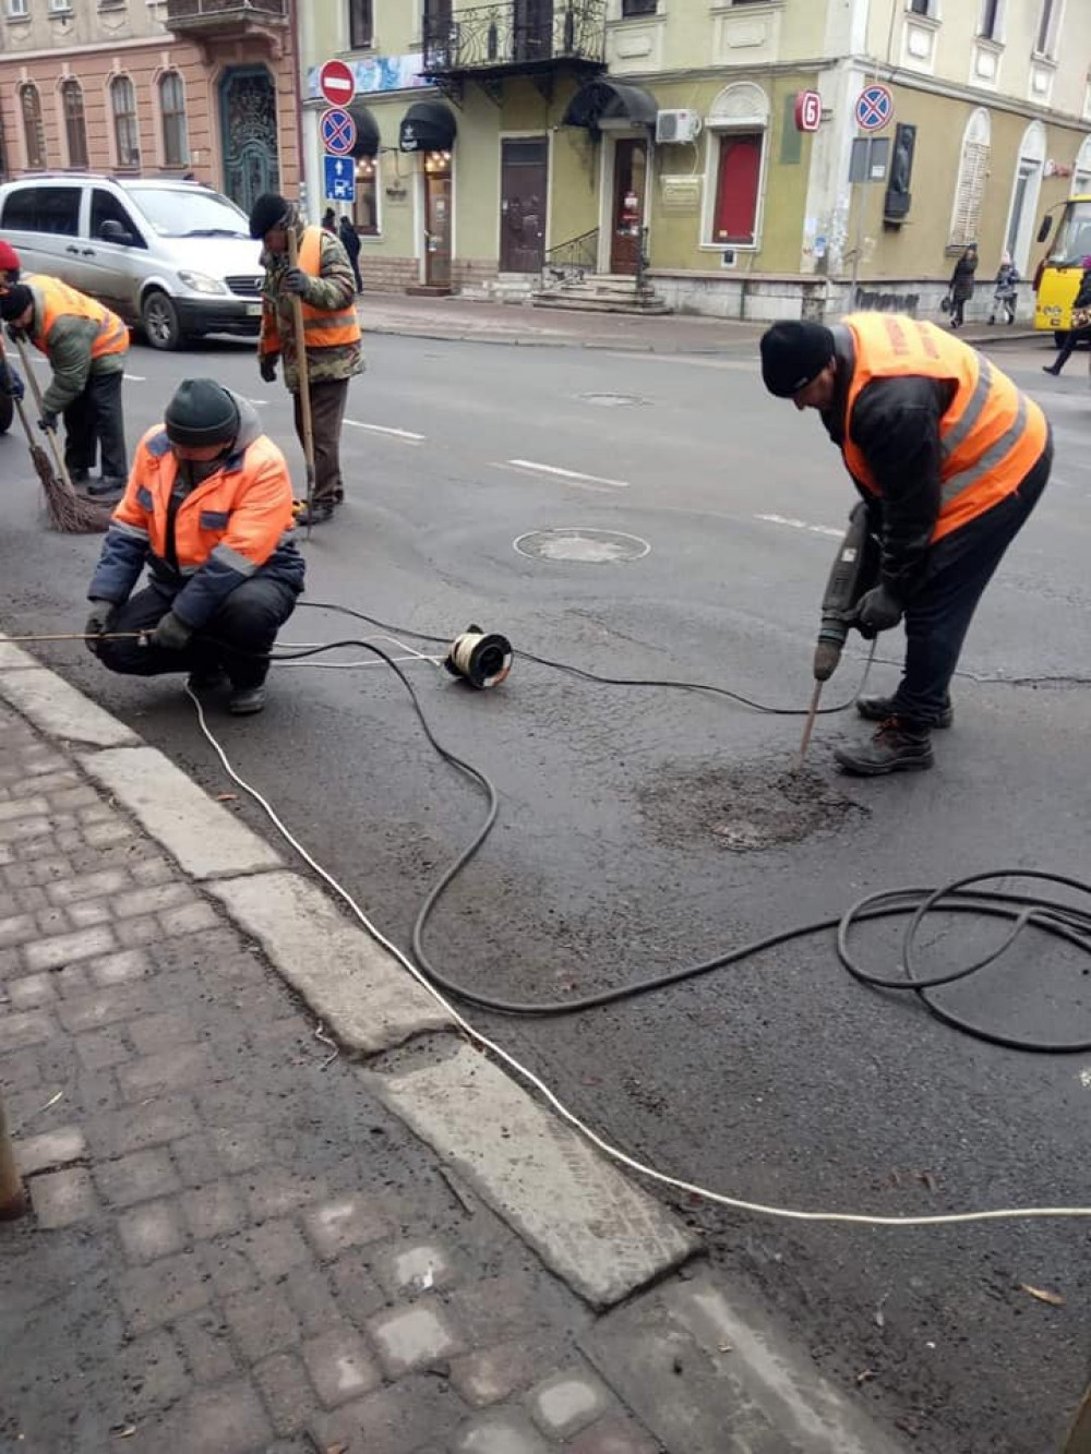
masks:
<instances>
[{"instance_id":1,"label":"pink building facade with arched windows behind the silver van","mask_svg":"<svg viewBox=\"0 0 1091 1454\"><path fill-rule=\"evenodd\" d=\"M0 170L300 185L288 0L0 0Z\"/></svg>"}]
</instances>

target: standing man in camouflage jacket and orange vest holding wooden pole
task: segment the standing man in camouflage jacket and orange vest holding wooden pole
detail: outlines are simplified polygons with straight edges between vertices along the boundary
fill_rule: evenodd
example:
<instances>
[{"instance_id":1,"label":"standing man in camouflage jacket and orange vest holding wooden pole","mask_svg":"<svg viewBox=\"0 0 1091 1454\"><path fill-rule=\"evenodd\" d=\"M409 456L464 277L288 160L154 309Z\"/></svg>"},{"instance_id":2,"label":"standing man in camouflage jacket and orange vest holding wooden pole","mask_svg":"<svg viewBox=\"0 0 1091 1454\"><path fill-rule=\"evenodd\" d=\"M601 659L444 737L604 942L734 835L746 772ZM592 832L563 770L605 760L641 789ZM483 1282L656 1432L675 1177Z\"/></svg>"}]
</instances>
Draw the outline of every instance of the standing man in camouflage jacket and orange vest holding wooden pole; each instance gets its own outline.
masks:
<instances>
[{"instance_id":1,"label":"standing man in camouflage jacket and orange vest holding wooden pole","mask_svg":"<svg viewBox=\"0 0 1091 1454\"><path fill-rule=\"evenodd\" d=\"M288 260L288 233L295 236L298 266ZM295 353L292 301L303 302L305 381L314 439L314 499L300 523L320 525L345 499L340 474L340 430L349 379L364 368L356 317L356 292L340 241L317 227L305 227L298 209L276 193L259 196L250 212L250 236L265 243L262 266L262 330L257 356L271 384L284 362L284 382L295 406L295 432L304 443L300 407L300 361ZM304 443L305 449L305 443Z\"/></svg>"}]
</instances>

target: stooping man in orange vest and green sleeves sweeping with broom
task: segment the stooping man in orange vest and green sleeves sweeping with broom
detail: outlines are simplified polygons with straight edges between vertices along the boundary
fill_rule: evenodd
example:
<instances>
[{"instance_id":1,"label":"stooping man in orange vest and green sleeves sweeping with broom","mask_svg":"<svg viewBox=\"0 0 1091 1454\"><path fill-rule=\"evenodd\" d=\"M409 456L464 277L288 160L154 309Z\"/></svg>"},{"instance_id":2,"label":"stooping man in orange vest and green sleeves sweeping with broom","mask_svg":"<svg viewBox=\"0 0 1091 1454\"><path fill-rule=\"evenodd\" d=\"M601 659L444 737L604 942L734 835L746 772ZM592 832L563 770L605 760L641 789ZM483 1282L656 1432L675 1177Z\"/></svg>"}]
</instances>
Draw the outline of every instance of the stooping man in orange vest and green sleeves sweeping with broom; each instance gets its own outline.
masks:
<instances>
[{"instance_id":1,"label":"stooping man in orange vest and green sleeves sweeping with broom","mask_svg":"<svg viewBox=\"0 0 1091 1454\"><path fill-rule=\"evenodd\" d=\"M87 494L118 494L128 477L121 381L129 330L96 298L60 278L32 275L0 294L0 318L44 353L52 378L42 397L42 430L64 416L64 464ZM96 457L102 474L92 480Z\"/></svg>"}]
</instances>

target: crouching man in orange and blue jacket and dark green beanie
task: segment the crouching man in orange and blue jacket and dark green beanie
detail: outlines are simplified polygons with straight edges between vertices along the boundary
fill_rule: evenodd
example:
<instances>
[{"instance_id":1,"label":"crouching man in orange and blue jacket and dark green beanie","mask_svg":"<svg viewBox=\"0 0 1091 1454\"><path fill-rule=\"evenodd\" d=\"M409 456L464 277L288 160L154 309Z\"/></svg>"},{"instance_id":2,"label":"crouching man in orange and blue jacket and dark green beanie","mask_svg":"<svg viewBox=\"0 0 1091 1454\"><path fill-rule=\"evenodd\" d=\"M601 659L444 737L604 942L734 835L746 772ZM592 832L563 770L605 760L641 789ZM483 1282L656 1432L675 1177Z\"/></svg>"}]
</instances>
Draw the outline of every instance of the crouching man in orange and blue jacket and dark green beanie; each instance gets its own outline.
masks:
<instances>
[{"instance_id":1,"label":"crouching man in orange and blue jacket and dark green beanie","mask_svg":"<svg viewBox=\"0 0 1091 1454\"><path fill-rule=\"evenodd\" d=\"M111 672L189 672L193 689L227 679L228 710L259 712L268 653L303 590L291 531L288 465L253 406L211 378L185 379L141 439L106 532L89 648ZM127 631L147 637L106 635Z\"/></svg>"}]
</instances>

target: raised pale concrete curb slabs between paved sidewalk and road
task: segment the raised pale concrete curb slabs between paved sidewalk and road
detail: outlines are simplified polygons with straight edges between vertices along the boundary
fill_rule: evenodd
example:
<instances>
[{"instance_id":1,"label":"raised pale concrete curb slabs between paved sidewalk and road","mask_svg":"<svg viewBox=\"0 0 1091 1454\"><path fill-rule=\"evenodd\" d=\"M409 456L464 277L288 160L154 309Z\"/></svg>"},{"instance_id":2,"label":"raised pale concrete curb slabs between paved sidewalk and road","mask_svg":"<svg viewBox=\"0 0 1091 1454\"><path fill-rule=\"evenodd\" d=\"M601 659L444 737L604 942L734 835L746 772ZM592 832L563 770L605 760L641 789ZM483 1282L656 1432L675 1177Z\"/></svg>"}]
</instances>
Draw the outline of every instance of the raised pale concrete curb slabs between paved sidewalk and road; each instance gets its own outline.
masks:
<instances>
[{"instance_id":1,"label":"raised pale concrete curb slabs between paved sidewalk and road","mask_svg":"<svg viewBox=\"0 0 1091 1454\"><path fill-rule=\"evenodd\" d=\"M260 941L276 973L346 1051L375 1056L449 1028L432 996L324 888L288 871L265 839L116 717L22 657L0 656L0 698L39 731L77 746L81 769L239 931ZM87 743L100 750L81 750ZM697 1249L659 1201L454 1037L425 1043L412 1072L375 1069L368 1077L390 1109L441 1160L470 1173L493 1210L595 1307L624 1300Z\"/></svg>"}]
</instances>

